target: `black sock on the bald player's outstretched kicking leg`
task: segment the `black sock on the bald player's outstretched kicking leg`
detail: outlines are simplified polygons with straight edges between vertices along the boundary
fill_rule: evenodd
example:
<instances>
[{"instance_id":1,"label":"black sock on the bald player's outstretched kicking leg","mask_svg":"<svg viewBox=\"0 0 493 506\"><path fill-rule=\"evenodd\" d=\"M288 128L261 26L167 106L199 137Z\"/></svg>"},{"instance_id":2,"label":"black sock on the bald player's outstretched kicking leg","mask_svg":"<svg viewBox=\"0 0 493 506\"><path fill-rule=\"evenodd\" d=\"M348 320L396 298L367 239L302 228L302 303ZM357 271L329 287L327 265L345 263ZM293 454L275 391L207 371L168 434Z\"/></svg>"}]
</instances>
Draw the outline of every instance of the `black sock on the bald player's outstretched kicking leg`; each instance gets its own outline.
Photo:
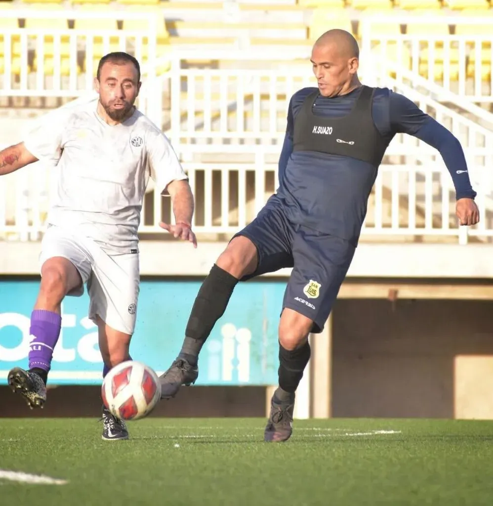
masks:
<instances>
[{"instance_id":1,"label":"black sock on the bald player's outstretched kicking leg","mask_svg":"<svg viewBox=\"0 0 493 506\"><path fill-rule=\"evenodd\" d=\"M212 266L195 299L179 358L197 365L200 350L216 321L226 311L237 283L235 276L215 264Z\"/></svg>"}]
</instances>

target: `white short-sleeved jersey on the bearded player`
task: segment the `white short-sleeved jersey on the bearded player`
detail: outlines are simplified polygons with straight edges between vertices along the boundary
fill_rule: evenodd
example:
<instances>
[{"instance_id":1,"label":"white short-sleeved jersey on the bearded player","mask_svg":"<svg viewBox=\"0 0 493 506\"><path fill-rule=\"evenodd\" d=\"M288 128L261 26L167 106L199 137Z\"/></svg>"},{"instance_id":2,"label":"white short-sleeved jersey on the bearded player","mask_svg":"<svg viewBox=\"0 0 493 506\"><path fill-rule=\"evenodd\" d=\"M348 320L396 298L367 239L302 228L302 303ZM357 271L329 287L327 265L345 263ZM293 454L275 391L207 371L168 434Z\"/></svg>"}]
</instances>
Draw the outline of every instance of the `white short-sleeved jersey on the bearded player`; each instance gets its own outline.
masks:
<instances>
[{"instance_id":1,"label":"white short-sleeved jersey on the bearded player","mask_svg":"<svg viewBox=\"0 0 493 506\"><path fill-rule=\"evenodd\" d=\"M103 247L137 248L137 229L149 177L162 191L187 179L166 136L136 110L111 126L98 115L98 101L62 108L25 137L27 150L58 174L48 223L90 237Z\"/></svg>"}]
</instances>

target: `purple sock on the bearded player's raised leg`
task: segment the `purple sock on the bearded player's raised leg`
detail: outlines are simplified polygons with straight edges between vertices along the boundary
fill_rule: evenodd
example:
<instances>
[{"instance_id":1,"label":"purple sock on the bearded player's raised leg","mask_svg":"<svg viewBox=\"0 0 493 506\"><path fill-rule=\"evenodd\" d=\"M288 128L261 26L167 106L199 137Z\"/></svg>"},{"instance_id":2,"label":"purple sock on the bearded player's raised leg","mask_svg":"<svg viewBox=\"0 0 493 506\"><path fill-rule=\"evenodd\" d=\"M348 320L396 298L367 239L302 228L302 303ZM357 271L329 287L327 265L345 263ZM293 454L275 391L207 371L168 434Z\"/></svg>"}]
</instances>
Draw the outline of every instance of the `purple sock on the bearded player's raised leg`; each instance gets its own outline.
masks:
<instances>
[{"instance_id":1,"label":"purple sock on the bearded player's raised leg","mask_svg":"<svg viewBox=\"0 0 493 506\"><path fill-rule=\"evenodd\" d=\"M57 313L44 309L35 309L31 313L29 369L37 367L47 372L50 370L61 327L62 317Z\"/></svg>"}]
</instances>

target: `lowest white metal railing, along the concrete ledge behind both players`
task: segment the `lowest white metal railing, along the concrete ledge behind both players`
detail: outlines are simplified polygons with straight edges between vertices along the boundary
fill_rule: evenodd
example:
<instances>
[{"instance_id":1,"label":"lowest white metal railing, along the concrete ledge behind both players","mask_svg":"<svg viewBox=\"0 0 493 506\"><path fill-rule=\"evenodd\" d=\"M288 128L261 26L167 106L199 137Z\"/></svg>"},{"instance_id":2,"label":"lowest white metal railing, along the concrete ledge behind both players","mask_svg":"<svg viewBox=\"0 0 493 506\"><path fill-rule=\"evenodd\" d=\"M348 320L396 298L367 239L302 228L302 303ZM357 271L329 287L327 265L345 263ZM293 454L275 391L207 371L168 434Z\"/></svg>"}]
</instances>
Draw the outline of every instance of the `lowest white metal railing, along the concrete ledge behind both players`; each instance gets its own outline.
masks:
<instances>
[{"instance_id":1,"label":"lowest white metal railing, along the concrete ledge behind both players","mask_svg":"<svg viewBox=\"0 0 493 506\"><path fill-rule=\"evenodd\" d=\"M197 148L199 146L195 147L196 151ZM210 148L209 154L213 152L212 146ZM236 151L233 148L235 146L230 147L230 153L238 155L238 147ZM224 152L216 150L218 155ZM405 153L405 145L394 142L389 148L391 155L399 151ZM195 230L233 234L249 223L278 187L278 168L273 161L277 153L278 148L272 146L257 149L255 153L244 149L243 154L250 156L247 161L184 162L196 198ZM55 178L56 168L47 170L38 166L0 178L0 237L39 239L46 227ZM457 237L461 242L467 240L464 233L491 237L493 212L486 206L490 181L479 184L476 189L481 221L475 227L459 228L452 180L440 163L399 165L386 162L380 167L370 196L363 237L431 235ZM172 219L169 199L161 197L157 191L148 192L140 232L160 232L158 224L163 219Z\"/></svg>"}]
</instances>

